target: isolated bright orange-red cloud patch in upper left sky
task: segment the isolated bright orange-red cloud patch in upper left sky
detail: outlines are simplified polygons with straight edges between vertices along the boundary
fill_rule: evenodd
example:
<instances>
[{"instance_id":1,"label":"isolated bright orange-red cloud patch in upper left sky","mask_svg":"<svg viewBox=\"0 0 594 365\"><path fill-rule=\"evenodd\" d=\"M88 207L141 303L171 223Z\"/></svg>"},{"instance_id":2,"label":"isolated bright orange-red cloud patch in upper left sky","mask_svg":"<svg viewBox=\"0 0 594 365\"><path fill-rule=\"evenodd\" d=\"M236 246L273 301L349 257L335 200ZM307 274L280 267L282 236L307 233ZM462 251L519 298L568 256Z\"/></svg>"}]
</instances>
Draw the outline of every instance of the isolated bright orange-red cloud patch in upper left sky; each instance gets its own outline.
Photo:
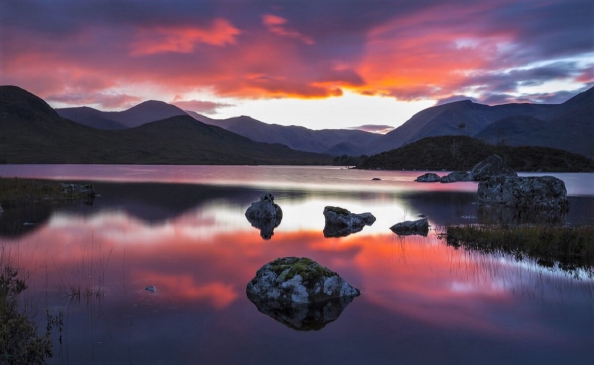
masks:
<instances>
[{"instance_id":1,"label":"isolated bright orange-red cloud patch in upper left sky","mask_svg":"<svg viewBox=\"0 0 594 365\"><path fill-rule=\"evenodd\" d=\"M228 20L217 18L210 27L155 27L141 28L131 47L131 56L146 56L155 53L191 53L198 43L211 46L225 46L236 43L241 33Z\"/></svg>"}]
</instances>

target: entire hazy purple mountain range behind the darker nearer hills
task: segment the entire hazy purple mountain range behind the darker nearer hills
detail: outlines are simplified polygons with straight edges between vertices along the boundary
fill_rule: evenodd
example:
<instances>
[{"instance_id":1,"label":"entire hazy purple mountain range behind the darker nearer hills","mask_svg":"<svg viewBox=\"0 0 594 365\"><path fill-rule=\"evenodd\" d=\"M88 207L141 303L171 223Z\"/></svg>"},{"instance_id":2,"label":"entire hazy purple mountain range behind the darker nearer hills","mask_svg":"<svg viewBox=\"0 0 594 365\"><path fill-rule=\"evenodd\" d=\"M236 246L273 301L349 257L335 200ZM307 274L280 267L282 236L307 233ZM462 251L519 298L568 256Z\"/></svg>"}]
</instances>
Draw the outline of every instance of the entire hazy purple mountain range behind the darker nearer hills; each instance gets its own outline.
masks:
<instances>
[{"instance_id":1,"label":"entire hazy purple mountain range behind the darker nearer hills","mask_svg":"<svg viewBox=\"0 0 594 365\"><path fill-rule=\"evenodd\" d=\"M125 129L172 116L189 115L252 141L280 143L331 155L377 154L426 137L465 135L489 144L536 145L594 155L594 88L562 104L501 104L470 100L429 107L386 135L352 129L313 130L260 122L249 116L213 119L162 101L145 101L123 112L90 107L56 109L59 115L99 129Z\"/></svg>"}]
</instances>

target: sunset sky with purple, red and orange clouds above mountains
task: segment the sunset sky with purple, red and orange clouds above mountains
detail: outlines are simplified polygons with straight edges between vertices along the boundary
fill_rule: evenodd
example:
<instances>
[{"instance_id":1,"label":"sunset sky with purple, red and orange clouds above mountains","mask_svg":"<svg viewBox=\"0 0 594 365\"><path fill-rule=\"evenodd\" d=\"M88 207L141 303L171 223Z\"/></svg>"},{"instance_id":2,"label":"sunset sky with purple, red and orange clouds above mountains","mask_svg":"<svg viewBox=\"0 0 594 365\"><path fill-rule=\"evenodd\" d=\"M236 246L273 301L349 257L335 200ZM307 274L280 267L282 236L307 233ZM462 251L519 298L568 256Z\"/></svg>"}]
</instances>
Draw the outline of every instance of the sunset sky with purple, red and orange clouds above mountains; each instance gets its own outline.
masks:
<instances>
[{"instance_id":1,"label":"sunset sky with purple, red and orange clouds above mountains","mask_svg":"<svg viewBox=\"0 0 594 365\"><path fill-rule=\"evenodd\" d=\"M592 0L0 0L0 84L52 107L387 131L594 85Z\"/></svg>"}]
</instances>

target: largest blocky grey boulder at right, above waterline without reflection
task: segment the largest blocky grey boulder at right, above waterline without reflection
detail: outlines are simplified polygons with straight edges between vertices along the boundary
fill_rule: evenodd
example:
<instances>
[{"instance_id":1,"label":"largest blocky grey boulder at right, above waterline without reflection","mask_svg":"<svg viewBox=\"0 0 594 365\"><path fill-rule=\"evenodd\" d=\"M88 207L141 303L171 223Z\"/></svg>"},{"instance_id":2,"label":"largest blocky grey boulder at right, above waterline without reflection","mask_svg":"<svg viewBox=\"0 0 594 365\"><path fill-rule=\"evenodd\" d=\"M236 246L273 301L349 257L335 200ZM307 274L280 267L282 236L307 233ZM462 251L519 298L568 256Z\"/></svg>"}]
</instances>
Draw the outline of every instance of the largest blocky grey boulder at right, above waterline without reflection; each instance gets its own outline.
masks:
<instances>
[{"instance_id":1,"label":"largest blocky grey boulder at right, above waterline without reflection","mask_svg":"<svg viewBox=\"0 0 594 365\"><path fill-rule=\"evenodd\" d=\"M493 176L479 183L479 204L567 211L567 189L554 176Z\"/></svg>"}]
</instances>

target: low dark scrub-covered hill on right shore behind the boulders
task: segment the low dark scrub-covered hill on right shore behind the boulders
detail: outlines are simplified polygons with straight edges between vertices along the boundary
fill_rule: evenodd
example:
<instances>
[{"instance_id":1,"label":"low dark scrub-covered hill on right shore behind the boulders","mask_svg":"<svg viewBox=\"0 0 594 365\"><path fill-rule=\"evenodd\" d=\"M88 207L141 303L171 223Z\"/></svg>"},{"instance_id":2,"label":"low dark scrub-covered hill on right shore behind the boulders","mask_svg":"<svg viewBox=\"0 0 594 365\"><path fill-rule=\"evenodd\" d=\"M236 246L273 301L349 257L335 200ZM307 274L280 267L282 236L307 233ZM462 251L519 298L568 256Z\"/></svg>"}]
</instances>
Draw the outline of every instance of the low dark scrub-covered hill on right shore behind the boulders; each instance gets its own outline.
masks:
<instances>
[{"instance_id":1,"label":"low dark scrub-covered hill on right shore behind the boulders","mask_svg":"<svg viewBox=\"0 0 594 365\"><path fill-rule=\"evenodd\" d=\"M357 169L470 170L488 155L497 154L516 171L594 172L594 160L548 147L489 145L466 136L428 137L384 153L372 155Z\"/></svg>"}]
</instances>

